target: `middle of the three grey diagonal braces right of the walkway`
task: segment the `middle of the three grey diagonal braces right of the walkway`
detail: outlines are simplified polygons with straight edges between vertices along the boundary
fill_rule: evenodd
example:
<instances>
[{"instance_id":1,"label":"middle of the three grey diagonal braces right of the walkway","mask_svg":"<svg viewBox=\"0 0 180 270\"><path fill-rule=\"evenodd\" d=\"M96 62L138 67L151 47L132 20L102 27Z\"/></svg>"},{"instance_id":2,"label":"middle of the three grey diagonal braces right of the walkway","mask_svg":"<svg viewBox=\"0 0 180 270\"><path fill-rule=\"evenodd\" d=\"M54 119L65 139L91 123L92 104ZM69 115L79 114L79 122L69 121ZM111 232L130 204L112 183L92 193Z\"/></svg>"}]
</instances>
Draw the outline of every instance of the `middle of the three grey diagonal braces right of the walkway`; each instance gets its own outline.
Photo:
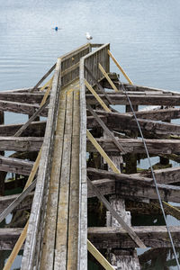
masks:
<instances>
[{"instance_id":1,"label":"middle of the three grey diagonal braces right of the walkway","mask_svg":"<svg viewBox=\"0 0 180 270\"><path fill-rule=\"evenodd\" d=\"M121 152L121 154L126 154L125 149L121 146L121 143L119 142L118 139L116 139L112 132L106 127L106 125L104 124L104 122L101 120L101 118L94 112L94 110L92 109L92 107L90 105L87 105L87 109L89 110L89 112L91 112L91 114L94 116L94 119L100 124L100 126L103 128L104 132L107 134L107 136L109 136L110 141L112 141L112 144L115 145L115 148L117 149L117 151ZM91 145L93 145L91 143ZM104 148L103 148L104 149ZM88 145L87 145L87 151L88 151Z\"/></svg>"}]
</instances>

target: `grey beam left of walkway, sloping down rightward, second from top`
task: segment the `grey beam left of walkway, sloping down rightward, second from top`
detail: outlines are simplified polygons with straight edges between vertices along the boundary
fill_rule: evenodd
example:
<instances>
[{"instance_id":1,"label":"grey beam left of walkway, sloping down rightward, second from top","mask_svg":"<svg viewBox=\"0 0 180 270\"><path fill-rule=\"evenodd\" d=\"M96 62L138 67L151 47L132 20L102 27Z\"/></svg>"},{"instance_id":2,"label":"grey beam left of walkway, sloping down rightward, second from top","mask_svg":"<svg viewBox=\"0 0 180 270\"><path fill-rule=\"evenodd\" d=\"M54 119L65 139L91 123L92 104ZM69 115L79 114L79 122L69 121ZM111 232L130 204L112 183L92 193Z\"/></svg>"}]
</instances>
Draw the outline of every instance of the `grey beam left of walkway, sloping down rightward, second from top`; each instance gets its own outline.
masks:
<instances>
[{"instance_id":1,"label":"grey beam left of walkway, sloping down rightward, second from top","mask_svg":"<svg viewBox=\"0 0 180 270\"><path fill-rule=\"evenodd\" d=\"M17 112L24 114L33 114L40 108L37 104L29 104L29 103L16 103L16 102L8 102L0 100L0 110L4 112ZM47 116L48 110L44 109L40 112L40 116Z\"/></svg>"}]
</instances>

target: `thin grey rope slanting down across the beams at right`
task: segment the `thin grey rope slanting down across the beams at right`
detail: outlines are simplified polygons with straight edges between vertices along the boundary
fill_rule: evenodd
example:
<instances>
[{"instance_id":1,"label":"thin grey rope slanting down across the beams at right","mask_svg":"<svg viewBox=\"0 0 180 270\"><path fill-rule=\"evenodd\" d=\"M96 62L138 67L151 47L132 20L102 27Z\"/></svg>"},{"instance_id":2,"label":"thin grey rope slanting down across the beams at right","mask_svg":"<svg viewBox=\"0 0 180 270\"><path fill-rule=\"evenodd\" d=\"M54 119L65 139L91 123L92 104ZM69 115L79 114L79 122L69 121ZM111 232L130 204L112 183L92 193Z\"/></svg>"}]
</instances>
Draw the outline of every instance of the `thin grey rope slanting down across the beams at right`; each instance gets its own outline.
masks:
<instances>
[{"instance_id":1,"label":"thin grey rope slanting down across the beams at right","mask_svg":"<svg viewBox=\"0 0 180 270\"><path fill-rule=\"evenodd\" d=\"M127 92L126 92L126 89L125 89L124 85L122 85L122 84L121 84L121 81L119 80L119 90L120 90L120 85L121 85L121 87L122 87L123 92L126 94L126 97L127 97L127 99L128 99L128 102L130 103L130 110L131 110L131 112L133 113L133 116L134 116L135 121L137 122L137 125L138 125L138 128L139 128L139 133L140 133L142 142L143 142L143 144L144 144L144 148L145 148L145 150L146 150L146 154L147 154L147 157L148 157L148 164L149 164L149 166L150 166L150 171L151 171L151 174L152 174L152 178L153 178L153 181L154 181L154 184L155 184L155 187L156 187L157 197L158 197L158 202L159 202L159 204L160 204L160 208L161 208L161 211L162 211L162 213L163 213L163 217L164 217L164 220L165 220L165 223L166 223L166 229L167 229L167 232L168 232L168 236L169 236L169 238L170 238L171 246L173 247L173 252L174 252L174 255L175 255L176 265L177 265L177 267L178 267L178 270L180 270L180 265L179 265L178 258L177 258L177 254L176 254L176 251L175 251L175 245L174 245L174 242L173 242L173 238L172 238L172 236L171 236L171 232L170 232L169 226L168 226L167 221L166 221L166 214L165 214L165 210L164 210L164 207L163 207L163 202L162 202L162 200L161 200L161 197L160 197L160 194L159 194L159 191L158 191L157 179L156 179L156 176L155 176L155 174L154 174L154 171L153 171L153 168L152 168L152 165L151 165L151 161L150 161L150 157L149 157L149 154L148 154L148 148L147 148L147 145L146 145L146 141L145 141L145 139L144 139L142 130L141 130L141 128L140 128L139 121L138 121L138 119L137 119L136 113L134 112L132 103L130 102L130 97L129 97L129 95L128 95Z\"/></svg>"}]
</instances>

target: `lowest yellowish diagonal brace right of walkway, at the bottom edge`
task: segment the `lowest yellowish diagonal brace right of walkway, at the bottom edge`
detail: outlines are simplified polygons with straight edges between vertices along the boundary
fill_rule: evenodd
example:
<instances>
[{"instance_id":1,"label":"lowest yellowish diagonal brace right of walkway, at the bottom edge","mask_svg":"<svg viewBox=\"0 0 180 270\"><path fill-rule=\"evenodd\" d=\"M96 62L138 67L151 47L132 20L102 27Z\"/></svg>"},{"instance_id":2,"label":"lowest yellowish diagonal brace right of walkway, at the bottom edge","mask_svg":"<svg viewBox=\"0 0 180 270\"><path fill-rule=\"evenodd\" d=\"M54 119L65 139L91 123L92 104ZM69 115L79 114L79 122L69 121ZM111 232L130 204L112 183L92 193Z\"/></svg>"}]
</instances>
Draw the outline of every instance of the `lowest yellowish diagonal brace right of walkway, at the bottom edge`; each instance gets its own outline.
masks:
<instances>
[{"instance_id":1,"label":"lowest yellowish diagonal brace right of walkway, at the bottom edge","mask_svg":"<svg viewBox=\"0 0 180 270\"><path fill-rule=\"evenodd\" d=\"M87 249L96 258L96 260L103 266L106 270L114 270L112 265L106 260L105 257L94 247L94 245L87 240Z\"/></svg>"}]
</instances>

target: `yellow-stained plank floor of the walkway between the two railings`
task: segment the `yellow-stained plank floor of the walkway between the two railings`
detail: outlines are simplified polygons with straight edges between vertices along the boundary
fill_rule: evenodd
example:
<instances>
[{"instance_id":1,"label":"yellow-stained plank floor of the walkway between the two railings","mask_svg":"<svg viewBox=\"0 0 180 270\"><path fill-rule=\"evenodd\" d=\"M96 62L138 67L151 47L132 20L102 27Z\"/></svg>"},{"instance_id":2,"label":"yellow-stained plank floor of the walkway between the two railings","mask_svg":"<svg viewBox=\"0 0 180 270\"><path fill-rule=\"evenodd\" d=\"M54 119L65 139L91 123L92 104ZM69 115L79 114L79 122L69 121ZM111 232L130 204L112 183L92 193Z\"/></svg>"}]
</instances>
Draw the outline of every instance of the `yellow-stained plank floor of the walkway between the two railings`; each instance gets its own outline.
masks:
<instances>
[{"instance_id":1,"label":"yellow-stained plank floor of the walkway between the two railings","mask_svg":"<svg viewBox=\"0 0 180 270\"><path fill-rule=\"evenodd\" d=\"M79 89L61 90L40 269L76 269L79 210Z\"/></svg>"}]
</instances>

